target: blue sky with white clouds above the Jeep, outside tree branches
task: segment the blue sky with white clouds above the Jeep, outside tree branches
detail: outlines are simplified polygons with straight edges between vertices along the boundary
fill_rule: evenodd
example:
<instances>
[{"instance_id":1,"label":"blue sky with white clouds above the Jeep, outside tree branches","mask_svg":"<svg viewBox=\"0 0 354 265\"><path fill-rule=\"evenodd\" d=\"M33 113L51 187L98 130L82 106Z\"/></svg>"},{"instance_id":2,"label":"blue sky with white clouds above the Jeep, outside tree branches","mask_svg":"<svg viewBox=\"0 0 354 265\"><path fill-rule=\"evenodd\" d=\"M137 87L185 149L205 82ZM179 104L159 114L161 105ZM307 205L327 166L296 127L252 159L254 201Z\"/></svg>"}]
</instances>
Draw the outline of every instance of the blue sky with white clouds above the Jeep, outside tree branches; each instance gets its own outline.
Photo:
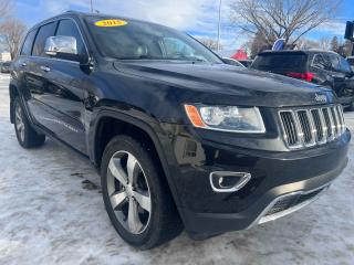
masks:
<instances>
[{"instance_id":1,"label":"blue sky with white clouds above the Jeep, outside tree branches","mask_svg":"<svg viewBox=\"0 0 354 265\"><path fill-rule=\"evenodd\" d=\"M94 10L169 25L196 38L217 39L219 0L92 0ZM230 24L229 4L237 0L222 0L221 45L236 50L247 40ZM15 0L15 15L29 26L67 10L90 12L90 0ZM345 21L354 20L354 0L343 0L336 18L306 35L343 38Z\"/></svg>"}]
</instances>

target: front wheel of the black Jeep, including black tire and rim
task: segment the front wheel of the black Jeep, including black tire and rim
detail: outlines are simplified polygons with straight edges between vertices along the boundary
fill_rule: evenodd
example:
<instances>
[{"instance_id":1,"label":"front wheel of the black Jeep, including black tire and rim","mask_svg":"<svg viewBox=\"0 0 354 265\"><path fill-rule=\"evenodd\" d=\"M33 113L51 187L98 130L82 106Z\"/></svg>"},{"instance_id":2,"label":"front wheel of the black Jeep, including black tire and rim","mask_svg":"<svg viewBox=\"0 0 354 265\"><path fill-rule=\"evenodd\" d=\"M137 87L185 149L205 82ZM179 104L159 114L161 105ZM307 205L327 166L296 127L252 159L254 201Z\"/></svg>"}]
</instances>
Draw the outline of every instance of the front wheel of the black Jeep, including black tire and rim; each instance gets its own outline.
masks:
<instances>
[{"instance_id":1,"label":"front wheel of the black Jeep, including black tire and rim","mask_svg":"<svg viewBox=\"0 0 354 265\"><path fill-rule=\"evenodd\" d=\"M111 222L125 242L140 250L170 241L183 230L169 188L155 161L152 151L134 138L116 136L106 146L101 165L103 200Z\"/></svg>"}]
</instances>

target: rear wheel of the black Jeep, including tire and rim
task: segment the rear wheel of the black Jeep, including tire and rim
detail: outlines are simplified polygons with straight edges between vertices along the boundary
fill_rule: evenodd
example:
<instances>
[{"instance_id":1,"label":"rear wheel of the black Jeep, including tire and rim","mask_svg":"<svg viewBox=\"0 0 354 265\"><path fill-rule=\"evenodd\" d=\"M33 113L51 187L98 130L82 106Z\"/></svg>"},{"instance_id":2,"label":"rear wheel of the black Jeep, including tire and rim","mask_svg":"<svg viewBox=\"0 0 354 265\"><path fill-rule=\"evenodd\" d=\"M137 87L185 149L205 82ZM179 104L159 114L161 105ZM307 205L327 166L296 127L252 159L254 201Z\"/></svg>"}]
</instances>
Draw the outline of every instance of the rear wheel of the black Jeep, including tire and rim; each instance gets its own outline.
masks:
<instances>
[{"instance_id":1,"label":"rear wheel of the black Jeep, including tire and rim","mask_svg":"<svg viewBox=\"0 0 354 265\"><path fill-rule=\"evenodd\" d=\"M45 141L45 136L38 134L31 126L27 118L20 98L17 97L13 102L13 115L14 115L14 131L18 141L23 148L40 147Z\"/></svg>"}]
</instances>

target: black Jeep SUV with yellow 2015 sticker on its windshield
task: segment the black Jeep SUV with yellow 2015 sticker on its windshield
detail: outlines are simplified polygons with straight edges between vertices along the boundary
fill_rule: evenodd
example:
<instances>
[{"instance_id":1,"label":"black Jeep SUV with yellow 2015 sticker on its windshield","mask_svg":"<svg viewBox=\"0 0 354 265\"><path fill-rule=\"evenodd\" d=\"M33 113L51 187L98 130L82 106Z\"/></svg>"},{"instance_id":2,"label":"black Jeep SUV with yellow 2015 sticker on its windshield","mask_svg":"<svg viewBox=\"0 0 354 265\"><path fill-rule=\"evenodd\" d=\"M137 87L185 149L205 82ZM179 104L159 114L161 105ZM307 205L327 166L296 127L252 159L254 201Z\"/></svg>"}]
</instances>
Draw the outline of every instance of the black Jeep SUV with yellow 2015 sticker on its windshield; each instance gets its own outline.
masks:
<instances>
[{"instance_id":1,"label":"black Jeep SUV with yellow 2015 sticker on its windshield","mask_svg":"<svg viewBox=\"0 0 354 265\"><path fill-rule=\"evenodd\" d=\"M88 158L114 227L140 248L283 216L347 163L331 89L238 70L163 25L66 12L29 31L12 67L20 145L51 137Z\"/></svg>"}]
</instances>

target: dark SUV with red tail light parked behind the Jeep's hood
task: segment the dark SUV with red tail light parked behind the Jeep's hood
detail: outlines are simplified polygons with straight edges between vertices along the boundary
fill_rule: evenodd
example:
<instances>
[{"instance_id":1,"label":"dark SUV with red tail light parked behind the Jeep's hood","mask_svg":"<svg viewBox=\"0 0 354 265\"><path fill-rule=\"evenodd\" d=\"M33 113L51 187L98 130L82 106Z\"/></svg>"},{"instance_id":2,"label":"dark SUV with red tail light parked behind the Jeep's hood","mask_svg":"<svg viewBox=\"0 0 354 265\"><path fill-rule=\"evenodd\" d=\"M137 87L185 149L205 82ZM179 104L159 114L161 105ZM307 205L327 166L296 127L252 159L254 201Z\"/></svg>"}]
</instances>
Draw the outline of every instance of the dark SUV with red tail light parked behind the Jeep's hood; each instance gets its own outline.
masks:
<instances>
[{"instance_id":1,"label":"dark SUV with red tail light parked behind the Jeep's hood","mask_svg":"<svg viewBox=\"0 0 354 265\"><path fill-rule=\"evenodd\" d=\"M266 51L258 54L251 68L332 88L342 105L354 110L354 73L348 62L335 52Z\"/></svg>"}]
</instances>

